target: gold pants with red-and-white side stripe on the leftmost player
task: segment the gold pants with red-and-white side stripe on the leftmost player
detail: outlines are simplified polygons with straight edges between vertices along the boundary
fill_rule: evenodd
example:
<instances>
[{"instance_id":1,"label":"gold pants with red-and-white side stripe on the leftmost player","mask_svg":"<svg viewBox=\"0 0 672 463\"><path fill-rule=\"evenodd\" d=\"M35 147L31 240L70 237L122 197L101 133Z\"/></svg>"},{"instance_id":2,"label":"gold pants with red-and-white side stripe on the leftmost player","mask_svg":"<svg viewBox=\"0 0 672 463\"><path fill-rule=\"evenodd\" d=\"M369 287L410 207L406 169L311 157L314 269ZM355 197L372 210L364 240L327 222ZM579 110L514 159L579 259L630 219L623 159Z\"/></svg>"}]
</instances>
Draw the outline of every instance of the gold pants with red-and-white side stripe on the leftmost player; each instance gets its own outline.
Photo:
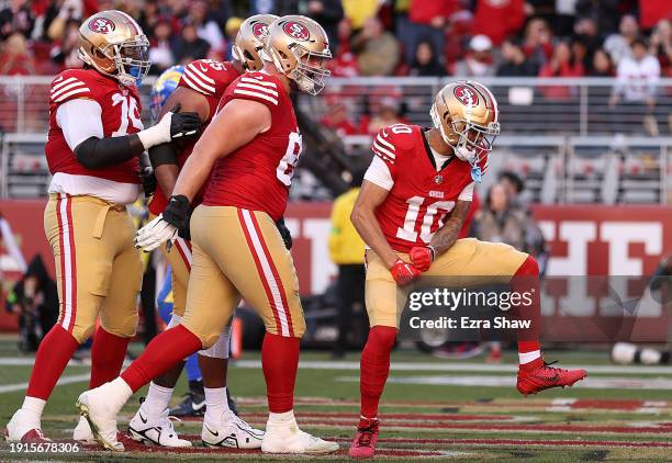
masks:
<instances>
[{"instance_id":1,"label":"gold pants with red-and-white side stripe on the leftmost player","mask_svg":"<svg viewBox=\"0 0 672 463\"><path fill-rule=\"evenodd\" d=\"M143 264L126 207L49 194L44 232L56 260L58 323L79 342L91 336L99 314L105 331L134 336Z\"/></svg>"}]
</instances>

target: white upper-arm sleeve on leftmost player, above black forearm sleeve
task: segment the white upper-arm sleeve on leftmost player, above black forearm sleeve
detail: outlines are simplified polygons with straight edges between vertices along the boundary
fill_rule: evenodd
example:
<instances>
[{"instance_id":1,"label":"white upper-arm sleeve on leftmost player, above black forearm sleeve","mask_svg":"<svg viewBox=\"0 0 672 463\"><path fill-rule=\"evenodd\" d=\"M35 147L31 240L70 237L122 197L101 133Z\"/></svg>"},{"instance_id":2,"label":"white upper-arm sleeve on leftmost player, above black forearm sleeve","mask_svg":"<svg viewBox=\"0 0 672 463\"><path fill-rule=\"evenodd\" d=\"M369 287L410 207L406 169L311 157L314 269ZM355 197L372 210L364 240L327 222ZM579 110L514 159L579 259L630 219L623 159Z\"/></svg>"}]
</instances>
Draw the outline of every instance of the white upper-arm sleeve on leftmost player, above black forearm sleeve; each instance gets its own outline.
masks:
<instances>
[{"instance_id":1,"label":"white upper-arm sleeve on leftmost player, above black forearm sleeve","mask_svg":"<svg viewBox=\"0 0 672 463\"><path fill-rule=\"evenodd\" d=\"M66 143L75 148L83 140L103 138L102 109L100 104L87 98L66 101L56 110L56 123L63 131Z\"/></svg>"}]
</instances>

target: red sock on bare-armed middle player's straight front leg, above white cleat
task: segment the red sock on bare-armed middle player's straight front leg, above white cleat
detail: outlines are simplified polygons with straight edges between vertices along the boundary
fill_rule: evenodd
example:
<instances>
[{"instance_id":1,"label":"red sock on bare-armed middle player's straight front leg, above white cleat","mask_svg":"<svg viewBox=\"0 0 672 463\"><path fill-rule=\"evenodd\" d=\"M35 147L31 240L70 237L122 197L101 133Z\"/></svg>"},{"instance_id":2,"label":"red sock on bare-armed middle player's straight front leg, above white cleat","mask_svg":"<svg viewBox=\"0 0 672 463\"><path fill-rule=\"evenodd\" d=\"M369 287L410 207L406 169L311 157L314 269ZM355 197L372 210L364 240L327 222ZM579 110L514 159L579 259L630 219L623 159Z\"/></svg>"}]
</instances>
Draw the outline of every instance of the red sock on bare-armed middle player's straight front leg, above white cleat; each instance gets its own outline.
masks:
<instances>
[{"instance_id":1,"label":"red sock on bare-armed middle player's straight front leg, above white cleat","mask_svg":"<svg viewBox=\"0 0 672 463\"><path fill-rule=\"evenodd\" d=\"M267 332L261 345L268 409L283 414L294 408L294 383L299 368L299 338Z\"/></svg>"}]
</instances>

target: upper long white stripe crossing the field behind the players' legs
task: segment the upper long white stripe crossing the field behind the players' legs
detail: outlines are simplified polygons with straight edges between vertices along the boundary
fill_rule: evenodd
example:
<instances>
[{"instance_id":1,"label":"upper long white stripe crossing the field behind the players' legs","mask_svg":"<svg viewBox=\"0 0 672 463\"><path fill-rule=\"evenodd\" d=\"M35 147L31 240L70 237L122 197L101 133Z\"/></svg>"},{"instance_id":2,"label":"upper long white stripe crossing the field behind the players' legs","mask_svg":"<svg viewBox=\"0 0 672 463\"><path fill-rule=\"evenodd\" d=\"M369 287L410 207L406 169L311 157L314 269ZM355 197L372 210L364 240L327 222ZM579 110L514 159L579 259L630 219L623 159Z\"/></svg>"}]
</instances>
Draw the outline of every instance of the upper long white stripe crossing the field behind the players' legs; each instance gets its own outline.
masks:
<instances>
[{"instance_id":1,"label":"upper long white stripe crossing the field behind the players' legs","mask_svg":"<svg viewBox=\"0 0 672 463\"><path fill-rule=\"evenodd\" d=\"M15 366L15 365L32 365L34 363L33 358L14 358L14 357L0 357L0 365ZM237 360L232 362L236 368L239 369L260 369L260 360ZM70 362L69 365L90 365L90 361L85 362ZM672 374L670 366L642 366L642 365L562 365L565 369L586 369L589 373L612 373L612 374ZM360 369L359 362L349 361L323 361L323 360L301 360L299 362L300 369L306 370L347 370L358 371ZM475 363L475 362L459 362L459 363L429 363L429 362L392 362L392 371L437 371L437 372L477 372L477 373L512 373L518 371L518 365L506 364L506 365L494 365L488 363Z\"/></svg>"}]
</instances>

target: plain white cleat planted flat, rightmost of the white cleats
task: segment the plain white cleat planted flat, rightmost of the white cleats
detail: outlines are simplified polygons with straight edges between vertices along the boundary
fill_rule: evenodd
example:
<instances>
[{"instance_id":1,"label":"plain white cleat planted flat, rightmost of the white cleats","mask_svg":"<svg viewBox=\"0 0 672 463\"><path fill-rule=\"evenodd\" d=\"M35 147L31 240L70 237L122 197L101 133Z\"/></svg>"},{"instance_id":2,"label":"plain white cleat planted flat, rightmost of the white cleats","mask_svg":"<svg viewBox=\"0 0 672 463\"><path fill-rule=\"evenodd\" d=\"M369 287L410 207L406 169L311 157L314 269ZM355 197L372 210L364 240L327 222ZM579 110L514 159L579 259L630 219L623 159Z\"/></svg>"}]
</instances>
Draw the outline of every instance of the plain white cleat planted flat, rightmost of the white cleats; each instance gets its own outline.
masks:
<instances>
[{"instance_id":1,"label":"plain white cleat planted flat, rightmost of the white cleats","mask_svg":"<svg viewBox=\"0 0 672 463\"><path fill-rule=\"evenodd\" d=\"M295 419L266 424L261 442L264 453L331 453L338 450L336 442L325 441L299 429Z\"/></svg>"}]
</instances>

